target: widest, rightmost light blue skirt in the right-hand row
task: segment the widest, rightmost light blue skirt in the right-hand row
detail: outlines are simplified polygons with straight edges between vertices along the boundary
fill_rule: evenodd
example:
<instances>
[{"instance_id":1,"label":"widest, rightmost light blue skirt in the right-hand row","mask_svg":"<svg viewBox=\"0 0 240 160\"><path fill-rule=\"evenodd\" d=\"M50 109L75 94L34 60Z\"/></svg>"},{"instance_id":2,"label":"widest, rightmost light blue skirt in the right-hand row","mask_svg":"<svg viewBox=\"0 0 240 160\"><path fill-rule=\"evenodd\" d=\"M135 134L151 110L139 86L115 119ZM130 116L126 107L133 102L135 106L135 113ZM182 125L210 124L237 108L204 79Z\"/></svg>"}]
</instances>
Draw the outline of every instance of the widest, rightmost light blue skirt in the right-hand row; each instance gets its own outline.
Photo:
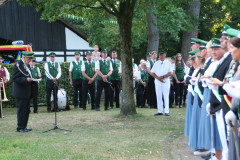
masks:
<instances>
[{"instance_id":1,"label":"widest, rightmost light blue skirt in the right-hand row","mask_svg":"<svg viewBox=\"0 0 240 160\"><path fill-rule=\"evenodd\" d=\"M211 120L207 115L206 106L210 101L211 90L204 88L202 112L198 130L198 149L211 149ZM213 148L222 149L221 140L218 133L216 118L213 118Z\"/></svg>"}]
</instances>

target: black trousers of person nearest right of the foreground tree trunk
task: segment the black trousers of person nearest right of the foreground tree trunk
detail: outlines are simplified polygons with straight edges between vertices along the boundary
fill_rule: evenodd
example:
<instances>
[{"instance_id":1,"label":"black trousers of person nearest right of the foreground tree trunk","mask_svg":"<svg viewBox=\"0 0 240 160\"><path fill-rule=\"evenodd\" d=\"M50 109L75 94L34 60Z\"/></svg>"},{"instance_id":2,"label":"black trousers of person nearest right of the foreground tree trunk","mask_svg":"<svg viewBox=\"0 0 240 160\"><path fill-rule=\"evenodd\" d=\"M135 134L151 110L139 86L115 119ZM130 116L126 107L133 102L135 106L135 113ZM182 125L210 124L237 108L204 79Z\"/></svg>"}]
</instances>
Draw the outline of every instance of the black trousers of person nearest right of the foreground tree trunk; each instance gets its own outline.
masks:
<instances>
[{"instance_id":1,"label":"black trousers of person nearest right of the foreground tree trunk","mask_svg":"<svg viewBox=\"0 0 240 160\"><path fill-rule=\"evenodd\" d=\"M144 87L141 84L138 84L137 89L137 106L138 107L145 107L146 99L147 99L147 90L146 87Z\"/></svg>"}]
</instances>

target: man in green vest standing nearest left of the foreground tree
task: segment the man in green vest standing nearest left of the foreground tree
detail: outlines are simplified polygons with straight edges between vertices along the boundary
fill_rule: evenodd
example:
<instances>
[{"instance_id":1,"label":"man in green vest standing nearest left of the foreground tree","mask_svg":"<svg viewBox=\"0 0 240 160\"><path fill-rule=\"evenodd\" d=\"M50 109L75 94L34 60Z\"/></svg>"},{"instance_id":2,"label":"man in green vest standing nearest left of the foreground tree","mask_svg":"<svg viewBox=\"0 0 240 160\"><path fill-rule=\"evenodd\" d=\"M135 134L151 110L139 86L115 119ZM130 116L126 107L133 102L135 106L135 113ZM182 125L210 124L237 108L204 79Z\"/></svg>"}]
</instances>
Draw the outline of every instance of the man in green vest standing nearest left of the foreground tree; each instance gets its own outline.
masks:
<instances>
[{"instance_id":1,"label":"man in green vest standing nearest left of the foreground tree","mask_svg":"<svg viewBox=\"0 0 240 160\"><path fill-rule=\"evenodd\" d=\"M122 63L120 60L117 59L117 51L112 51L112 66L113 71L112 75L110 76L112 87L110 88L110 107L113 108L113 101L116 102L116 108L119 108L119 93L121 88L121 67ZM114 97L115 95L115 97Z\"/></svg>"}]
</instances>

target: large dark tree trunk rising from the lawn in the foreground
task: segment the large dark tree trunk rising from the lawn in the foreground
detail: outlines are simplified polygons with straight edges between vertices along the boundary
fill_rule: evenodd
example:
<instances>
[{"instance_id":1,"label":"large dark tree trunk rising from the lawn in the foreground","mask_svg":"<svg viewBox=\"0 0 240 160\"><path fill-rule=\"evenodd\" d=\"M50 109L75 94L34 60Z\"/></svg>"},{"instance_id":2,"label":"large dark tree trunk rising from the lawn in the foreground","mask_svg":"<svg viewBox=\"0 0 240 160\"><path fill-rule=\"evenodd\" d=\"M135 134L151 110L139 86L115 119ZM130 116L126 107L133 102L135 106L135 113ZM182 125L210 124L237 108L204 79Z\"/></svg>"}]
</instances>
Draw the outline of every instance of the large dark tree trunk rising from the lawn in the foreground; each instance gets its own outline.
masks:
<instances>
[{"instance_id":1,"label":"large dark tree trunk rising from the lawn in the foreground","mask_svg":"<svg viewBox=\"0 0 240 160\"><path fill-rule=\"evenodd\" d=\"M121 115L136 114L133 92L133 69L132 69L132 19L133 6L129 1L121 2L120 15L118 17L120 30L120 46L122 60L122 106Z\"/></svg>"}]
</instances>

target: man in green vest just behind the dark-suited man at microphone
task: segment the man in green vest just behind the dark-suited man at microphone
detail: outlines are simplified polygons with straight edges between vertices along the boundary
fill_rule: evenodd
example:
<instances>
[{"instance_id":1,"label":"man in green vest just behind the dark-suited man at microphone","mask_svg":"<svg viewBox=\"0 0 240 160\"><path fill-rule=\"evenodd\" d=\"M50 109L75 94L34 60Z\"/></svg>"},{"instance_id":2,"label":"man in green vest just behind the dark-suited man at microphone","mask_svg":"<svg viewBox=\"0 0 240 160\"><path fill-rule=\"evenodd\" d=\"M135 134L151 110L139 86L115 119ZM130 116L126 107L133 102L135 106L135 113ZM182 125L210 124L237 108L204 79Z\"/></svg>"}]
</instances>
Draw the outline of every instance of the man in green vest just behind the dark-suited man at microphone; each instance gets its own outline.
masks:
<instances>
[{"instance_id":1,"label":"man in green vest just behind the dark-suited man at microphone","mask_svg":"<svg viewBox=\"0 0 240 160\"><path fill-rule=\"evenodd\" d=\"M31 61L30 61L30 69L31 69L31 73L32 73L32 77L34 79L40 79L41 78L41 72L39 70L39 68L37 66L35 66L36 64L36 58L34 57ZM37 97L38 97L38 82L37 81L32 81L32 99L33 99L33 113L38 113L38 101L37 101Z\"/></svg>"}]
</instances>

